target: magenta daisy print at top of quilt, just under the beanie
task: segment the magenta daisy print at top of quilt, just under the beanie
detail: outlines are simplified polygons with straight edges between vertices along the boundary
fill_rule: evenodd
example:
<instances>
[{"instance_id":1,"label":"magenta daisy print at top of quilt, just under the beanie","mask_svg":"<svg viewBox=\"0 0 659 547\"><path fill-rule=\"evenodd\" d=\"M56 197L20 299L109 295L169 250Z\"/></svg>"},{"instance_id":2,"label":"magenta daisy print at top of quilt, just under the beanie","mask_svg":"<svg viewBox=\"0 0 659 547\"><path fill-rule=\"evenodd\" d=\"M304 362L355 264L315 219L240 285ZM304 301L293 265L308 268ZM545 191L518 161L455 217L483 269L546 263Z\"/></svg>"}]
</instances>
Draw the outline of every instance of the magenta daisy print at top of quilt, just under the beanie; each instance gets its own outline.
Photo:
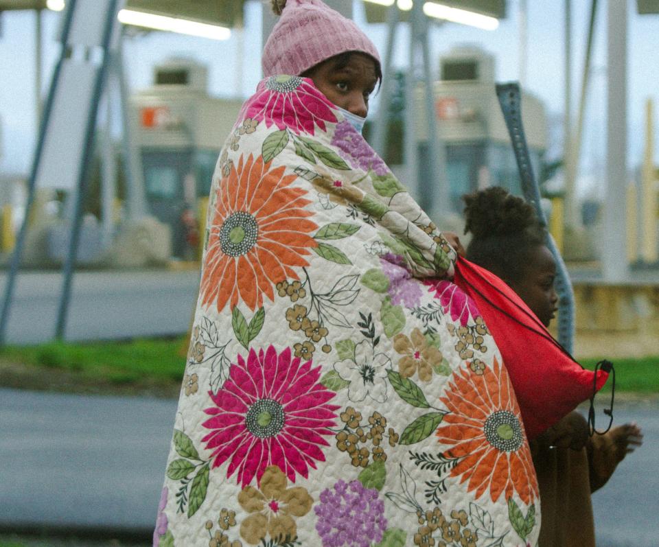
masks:
<instances>
[{"instance_id":1,"label":"magenta daisy print at top of quilt, just under the beanie","mask_svg":"<svg viewBox=\"0 0 659 547\"><path fill-rule=\"evenodd\" d=\"M263 120L266 128L275 124L279 130L314 135L316 126L325 131L325 121L336 123L333 108L309 78L270 76L259 83L238 119Z\"/></svg>"}]
</instances>

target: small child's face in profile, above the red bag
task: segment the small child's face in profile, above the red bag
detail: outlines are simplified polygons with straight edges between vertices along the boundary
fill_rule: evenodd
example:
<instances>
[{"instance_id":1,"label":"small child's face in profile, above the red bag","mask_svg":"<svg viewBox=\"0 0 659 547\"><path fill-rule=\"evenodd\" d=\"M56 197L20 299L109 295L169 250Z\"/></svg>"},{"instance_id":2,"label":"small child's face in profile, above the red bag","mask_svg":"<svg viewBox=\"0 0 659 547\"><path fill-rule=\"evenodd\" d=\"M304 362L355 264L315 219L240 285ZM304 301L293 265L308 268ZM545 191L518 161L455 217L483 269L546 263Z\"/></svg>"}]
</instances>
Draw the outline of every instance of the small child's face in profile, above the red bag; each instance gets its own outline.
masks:
<instances>
[{"instance_id":1,"label":"small child's face in profile, above the red bag","mask_svg":"<svg viewBox=\"0 0 659 547\"><path fill-rule=\"evenodd\" d=\"M545 327L549 326L558 309L558 295L554 290L556 262L551 251L544 245L529 252L522 279L511 283L511 288L531 308Z\"/></svg>"}]
</instances>

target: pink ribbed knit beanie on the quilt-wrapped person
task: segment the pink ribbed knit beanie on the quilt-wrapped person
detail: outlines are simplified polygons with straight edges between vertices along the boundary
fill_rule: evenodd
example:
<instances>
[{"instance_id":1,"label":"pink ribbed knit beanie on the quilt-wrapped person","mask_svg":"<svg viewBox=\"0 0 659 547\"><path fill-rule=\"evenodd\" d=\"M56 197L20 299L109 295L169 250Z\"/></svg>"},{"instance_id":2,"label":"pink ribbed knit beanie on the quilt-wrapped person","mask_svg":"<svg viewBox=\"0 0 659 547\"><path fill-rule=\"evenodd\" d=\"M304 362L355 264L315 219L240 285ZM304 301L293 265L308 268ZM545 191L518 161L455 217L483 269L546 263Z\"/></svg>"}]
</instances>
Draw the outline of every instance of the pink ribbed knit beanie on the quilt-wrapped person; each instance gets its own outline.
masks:
<instances>
[{"instance_id":1,"label":"pink ribbed knit beanie on the quilt-wrapped person","mask_svg":"<svg viewBox=\"0 0 659 547\"><path fill-rule=\"evenodd\" d=\"M263 49L264 76L297 76L347 51L361 51L380 62L368 36L321 0L276 0L273 4L281 17Z\"/></svg>"}]
</instances>

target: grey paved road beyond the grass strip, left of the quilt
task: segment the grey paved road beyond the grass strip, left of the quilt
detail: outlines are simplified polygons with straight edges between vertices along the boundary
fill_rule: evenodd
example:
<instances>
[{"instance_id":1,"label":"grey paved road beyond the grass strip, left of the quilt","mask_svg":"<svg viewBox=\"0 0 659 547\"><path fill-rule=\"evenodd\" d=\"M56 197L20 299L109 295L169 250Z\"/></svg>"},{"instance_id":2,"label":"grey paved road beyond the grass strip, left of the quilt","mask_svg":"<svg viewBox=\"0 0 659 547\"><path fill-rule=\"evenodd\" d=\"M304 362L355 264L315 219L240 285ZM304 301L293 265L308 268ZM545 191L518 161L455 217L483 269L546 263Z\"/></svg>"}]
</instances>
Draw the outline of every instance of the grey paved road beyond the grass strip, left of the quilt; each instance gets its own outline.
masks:
<instances>
[{"instance_id":1,"label":"grey paved road beyond the grass strip, left of the quilt","mask_svg":"<svg viewBox=\"0 0 659 547\"><path fill-rule=\"evenodd\" d=\"M197 270L78 272L73 277L67 340L181 334L189 328ZM6 275L0 275L0 289ZM7 329L10 344L51 340L62 291L59 273L21 273Z\"/></svg>"}]
</instances>

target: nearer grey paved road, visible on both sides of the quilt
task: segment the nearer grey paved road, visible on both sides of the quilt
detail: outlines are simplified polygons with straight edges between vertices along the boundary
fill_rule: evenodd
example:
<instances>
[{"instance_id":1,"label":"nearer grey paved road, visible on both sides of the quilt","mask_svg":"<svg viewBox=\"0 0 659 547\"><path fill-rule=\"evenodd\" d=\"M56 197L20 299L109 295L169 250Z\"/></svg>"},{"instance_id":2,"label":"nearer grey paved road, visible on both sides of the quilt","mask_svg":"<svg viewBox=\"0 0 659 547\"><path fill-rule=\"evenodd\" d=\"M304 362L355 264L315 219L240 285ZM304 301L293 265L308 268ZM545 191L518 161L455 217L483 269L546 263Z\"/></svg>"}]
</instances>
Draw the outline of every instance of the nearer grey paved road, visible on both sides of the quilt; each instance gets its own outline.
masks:
<instances>
[{"instance_id":1,"label":"nearer grey paved road, visible on both sides of the quilt","mask_svg":"<svg viewBox=\"0 0 659 547\"><path fill-rule=\"evenodd\" d=\"M0 528L154 523L176 401L0 389ZM593 496L598 547L659 546L659 404L626 404L645 444Z\"/></svg>"}]
</instances>

